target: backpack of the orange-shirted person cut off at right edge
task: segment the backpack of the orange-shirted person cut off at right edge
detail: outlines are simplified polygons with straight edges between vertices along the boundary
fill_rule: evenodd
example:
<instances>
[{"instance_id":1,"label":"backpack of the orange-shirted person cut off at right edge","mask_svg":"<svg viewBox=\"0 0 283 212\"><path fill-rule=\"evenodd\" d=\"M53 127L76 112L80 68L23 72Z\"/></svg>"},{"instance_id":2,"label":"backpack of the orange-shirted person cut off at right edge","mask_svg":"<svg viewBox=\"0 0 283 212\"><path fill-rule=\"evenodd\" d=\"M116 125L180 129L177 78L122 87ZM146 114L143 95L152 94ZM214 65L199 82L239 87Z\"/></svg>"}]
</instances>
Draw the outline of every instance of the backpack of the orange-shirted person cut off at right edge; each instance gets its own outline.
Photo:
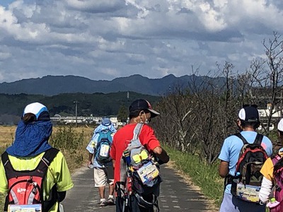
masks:
<instances>
[{"instance_id":1,"label":"backpack of the orange-shirted person cut off at right edge","mask_svg":"<svg viewBox=\"0 0 283 212\"><path fill-rule=\"evenodd\" d=\"M282 212L283 211L283 158L277 154L272 158L273 167L279 165L275 170L274 175L274 187L272 188L272 194L275 198L275 203L267 204L270 208L270 212Z\"/></svg>"}]
</instances>

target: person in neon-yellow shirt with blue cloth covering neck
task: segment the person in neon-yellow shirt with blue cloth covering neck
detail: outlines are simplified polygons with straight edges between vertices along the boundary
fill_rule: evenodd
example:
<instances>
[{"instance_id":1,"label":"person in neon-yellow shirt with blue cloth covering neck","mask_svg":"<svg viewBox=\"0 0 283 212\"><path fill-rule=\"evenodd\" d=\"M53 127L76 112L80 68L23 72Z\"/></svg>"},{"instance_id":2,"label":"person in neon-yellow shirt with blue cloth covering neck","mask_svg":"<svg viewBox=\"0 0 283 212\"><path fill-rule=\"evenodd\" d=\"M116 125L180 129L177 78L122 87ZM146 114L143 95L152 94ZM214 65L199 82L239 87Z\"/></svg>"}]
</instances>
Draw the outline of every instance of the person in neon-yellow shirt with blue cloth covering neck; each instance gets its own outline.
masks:
<instances>
[{"instance_id":1,"label":"person in neon-yellow shirt with blue cloth covering neck","mask_svg":"<svg viewBox=\"0 0 283 212\"><path fill-rule=\"evenodd\" d=\"M48 143L51 134L52 123L47 107L39 102L27 105L17 126L15 141L1 155L0 192L8 194L4 211L22 198L11 194L11 188L19 182L25 182L26 187L18 187L16 193L23 193L23 196L28 196L27 192L31 190L33 193L28 199L22 198L24 205L36 203L41 204L42 212L59 211L59 202L64 200L67 190L74 184L64 155ZM28 177L28 180L19 181L18 176ZM13 180L16 181L14 184L11 183ZM27 189L30 184L35 187Z\"/></svg>"}]
</instances>

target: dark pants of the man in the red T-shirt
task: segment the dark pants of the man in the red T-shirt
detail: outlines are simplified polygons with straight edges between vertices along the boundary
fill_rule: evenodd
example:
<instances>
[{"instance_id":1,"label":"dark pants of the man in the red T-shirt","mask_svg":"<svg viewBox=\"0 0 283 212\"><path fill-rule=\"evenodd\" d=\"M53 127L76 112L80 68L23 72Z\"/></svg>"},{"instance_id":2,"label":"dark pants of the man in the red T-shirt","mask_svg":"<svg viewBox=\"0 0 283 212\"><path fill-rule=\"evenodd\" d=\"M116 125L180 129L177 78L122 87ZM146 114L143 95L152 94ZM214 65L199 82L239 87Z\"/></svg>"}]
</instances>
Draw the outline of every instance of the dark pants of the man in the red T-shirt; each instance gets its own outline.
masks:
<instances>
[{"instance_id":1,"label":"dark pants of the man in the red T-shirt","mask_svg":"<svg viewBox=\"0 0 283 212\"><path fill-rule=\"evenodd\" d=\"M129 196L128 204L125 206L123 211L123 206L125 206L125 199L120 196L116 198L116 212L154 212L154 207L144 208L139 206L137 203L137 198L134 195Z\"/></svg>"}]
</instances>

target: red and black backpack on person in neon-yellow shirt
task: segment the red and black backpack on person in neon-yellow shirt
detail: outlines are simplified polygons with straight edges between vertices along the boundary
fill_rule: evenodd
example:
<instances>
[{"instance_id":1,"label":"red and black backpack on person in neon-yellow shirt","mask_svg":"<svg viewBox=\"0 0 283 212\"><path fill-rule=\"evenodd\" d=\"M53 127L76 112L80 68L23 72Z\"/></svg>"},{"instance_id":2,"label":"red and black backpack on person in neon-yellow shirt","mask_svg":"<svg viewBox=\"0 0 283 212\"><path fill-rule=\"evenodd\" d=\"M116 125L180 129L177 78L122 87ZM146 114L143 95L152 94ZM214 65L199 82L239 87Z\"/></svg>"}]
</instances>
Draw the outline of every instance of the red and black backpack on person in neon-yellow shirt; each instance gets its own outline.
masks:
<instances>
[{"instance_id":1,"label":"red and black backpack on person in neon-yellow shirt","mask_svg":"<svg viewBox=\"0 0 283 212\"><path fill-rule=\"evenodd\" d=\"M42 160L40 160L40 163L38 163L34 170L22 171L13 169L6 151L1 155L8 181L8 194L6 196L4 211L8 211L10 207L15 207L14 205L36 205L35 208L37 210L40 208L42 212L47 212L54 206L57 201L56 184L50 191L49 199L45 201L43 201L42 187L48 167L58 152L59 150L56 148L50 148L45 151Z\"/></svg>"}]
</instances>

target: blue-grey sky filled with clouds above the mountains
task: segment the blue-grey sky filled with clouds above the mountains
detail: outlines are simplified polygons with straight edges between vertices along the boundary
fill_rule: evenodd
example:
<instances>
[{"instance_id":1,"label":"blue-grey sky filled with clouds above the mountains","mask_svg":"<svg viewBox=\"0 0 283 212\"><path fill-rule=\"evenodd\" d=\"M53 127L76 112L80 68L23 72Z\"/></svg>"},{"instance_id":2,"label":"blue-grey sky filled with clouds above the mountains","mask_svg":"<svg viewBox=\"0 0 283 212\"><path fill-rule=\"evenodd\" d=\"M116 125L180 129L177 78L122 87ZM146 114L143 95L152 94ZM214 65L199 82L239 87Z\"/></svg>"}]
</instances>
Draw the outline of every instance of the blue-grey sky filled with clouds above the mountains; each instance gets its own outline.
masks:
<instances>
[{"instance_id":1,"label":"blue-grey sky filled with clouds above the mountains","mask_svg":"<svg viewBox=\"0 0 283 212\"><path fill-rule=\"evenodd\" d=\"M279 0L1 0L0 83L245 71L283 34Z\"/></svg>"}]
</instances>

